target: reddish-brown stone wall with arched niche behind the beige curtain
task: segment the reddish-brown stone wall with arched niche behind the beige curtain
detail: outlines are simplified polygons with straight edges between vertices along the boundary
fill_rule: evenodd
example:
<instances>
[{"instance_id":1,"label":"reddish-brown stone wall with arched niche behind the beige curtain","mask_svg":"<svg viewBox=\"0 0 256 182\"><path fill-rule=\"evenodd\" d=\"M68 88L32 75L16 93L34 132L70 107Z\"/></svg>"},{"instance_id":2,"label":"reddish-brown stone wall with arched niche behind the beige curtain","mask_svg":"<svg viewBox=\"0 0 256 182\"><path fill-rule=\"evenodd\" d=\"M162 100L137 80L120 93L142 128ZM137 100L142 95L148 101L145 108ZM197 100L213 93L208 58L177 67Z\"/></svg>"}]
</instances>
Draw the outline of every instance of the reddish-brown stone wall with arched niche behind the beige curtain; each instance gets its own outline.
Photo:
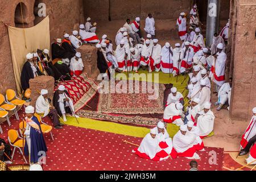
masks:
<instances>
[{"instance_id":1,"label":"reddish-brown stone wall with arched niche behind the beige curtain","mask_svg":"<svg viewBox=\"0 0 256 182\"><path fill-rule=\"evenodd\" d=\"M41 18L34 15L35 0L0 0L1 16L0 16L0 93L5 93L6 89L16 89L14 80L13 63L11 60L11 50L7 27L22 27L22 19L17 11L15 18L15 9L22 2L24 27L32 27L34 23L40 22ZM80 22L84 22L84 12L82 0L37 0L36 4L43 2L46 4L46 14L49 14L51 41L54 38L63 38L63 31L70 33L73 29L77 29ZM20 9L19 9L20 10ZM16 24L15 24L16 22ZM18 23L17 23L18 22ZM36 50L35 50L36 51Z\"/></svg>"}]
</instances>

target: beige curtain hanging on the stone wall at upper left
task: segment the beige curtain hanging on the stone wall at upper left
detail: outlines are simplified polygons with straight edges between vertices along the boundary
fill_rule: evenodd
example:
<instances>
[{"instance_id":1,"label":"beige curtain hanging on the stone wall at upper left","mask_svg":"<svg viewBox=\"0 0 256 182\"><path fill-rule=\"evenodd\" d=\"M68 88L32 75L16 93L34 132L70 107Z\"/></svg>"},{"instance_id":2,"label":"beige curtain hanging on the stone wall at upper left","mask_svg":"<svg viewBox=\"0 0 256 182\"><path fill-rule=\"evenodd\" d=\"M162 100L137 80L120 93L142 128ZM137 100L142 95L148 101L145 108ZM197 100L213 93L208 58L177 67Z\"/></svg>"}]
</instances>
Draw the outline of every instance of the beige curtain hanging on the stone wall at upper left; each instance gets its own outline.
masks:
<instances>
[{"instance_id":1,"label":"beige curtain hanging on the stone wall at upper left","mask_svg":"<svg viewBox=\"0 0 256 182\"><path fill-rule=\"evenodd\" d=\"M13 69L18 93L22 93L20 76L26 55L29 52L36 52L37 49L49 49L49 16L42 22L31 28L8 27L11 57L13 59Z\"/></svg>"}]
</instances>

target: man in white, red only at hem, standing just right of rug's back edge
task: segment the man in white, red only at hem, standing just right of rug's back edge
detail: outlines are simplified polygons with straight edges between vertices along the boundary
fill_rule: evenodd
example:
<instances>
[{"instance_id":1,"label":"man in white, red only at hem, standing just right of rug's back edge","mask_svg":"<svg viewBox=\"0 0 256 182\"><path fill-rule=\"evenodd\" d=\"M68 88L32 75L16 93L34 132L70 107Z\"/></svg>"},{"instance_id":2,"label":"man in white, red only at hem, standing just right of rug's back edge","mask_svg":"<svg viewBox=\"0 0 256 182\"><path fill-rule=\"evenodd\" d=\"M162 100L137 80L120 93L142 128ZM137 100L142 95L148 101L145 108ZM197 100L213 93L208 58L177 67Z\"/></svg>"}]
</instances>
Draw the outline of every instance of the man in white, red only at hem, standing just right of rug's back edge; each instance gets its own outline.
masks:
<instances>
[{"instance_id":1,"label":"man in white, red only at hem, standing just right of rug's back edge","mask_svg":"<svg viewBox=\"0 0 256 182\"><path fill-rule=\"evenodd\" d=\"M175 44L175 48L173 50L173 55L172 55L172 61L174 61L173 69L174 71L172 72L174 74L174 77L180 74L180 66L181 66L181 60L184 58L184 51L180 47L180 43Z\"/></svg>"}]
</instances>

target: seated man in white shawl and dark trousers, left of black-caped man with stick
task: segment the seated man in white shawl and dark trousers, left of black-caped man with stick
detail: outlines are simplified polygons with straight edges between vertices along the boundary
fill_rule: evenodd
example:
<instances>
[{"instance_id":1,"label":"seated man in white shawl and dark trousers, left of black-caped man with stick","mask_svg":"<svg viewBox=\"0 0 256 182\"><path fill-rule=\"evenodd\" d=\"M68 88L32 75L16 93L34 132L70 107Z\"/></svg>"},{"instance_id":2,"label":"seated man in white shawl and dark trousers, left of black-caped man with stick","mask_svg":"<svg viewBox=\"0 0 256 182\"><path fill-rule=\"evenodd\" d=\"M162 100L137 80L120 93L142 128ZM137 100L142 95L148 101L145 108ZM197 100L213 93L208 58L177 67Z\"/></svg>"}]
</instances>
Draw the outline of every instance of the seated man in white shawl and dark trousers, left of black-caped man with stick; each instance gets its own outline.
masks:
<instances>
[{"instance_id":1,"label":"seated man in white shawl and dark trousers, left of black-caped man with stick","mask_svg":"<svg viewBox=\"0 0 256 182\"><path fill-rule=\"evenodd\" d=\"M48 90L41 90L41 95L36 100L36 113L40 115L40 117L44 118L49 115L52 119L53 126L55 129L62 129L63 124L60 123L59 116L57 110L49 105L50 101L48 99Z\"/></svg>"}]
</instances>

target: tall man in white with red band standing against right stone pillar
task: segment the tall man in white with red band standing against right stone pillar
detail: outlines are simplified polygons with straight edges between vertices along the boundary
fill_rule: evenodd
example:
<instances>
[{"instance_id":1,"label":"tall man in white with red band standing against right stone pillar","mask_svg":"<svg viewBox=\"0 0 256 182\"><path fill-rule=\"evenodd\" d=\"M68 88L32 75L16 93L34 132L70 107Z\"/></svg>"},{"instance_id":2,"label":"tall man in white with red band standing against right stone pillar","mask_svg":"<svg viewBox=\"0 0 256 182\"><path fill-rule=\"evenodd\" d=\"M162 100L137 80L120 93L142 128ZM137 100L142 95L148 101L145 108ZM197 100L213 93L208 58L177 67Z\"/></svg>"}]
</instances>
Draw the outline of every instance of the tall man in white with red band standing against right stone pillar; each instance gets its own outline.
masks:
<instances>
[{"instance_id":1,"label":"tall man in white with red band standing against right stone pillar","mask_svg":"<svg viewBox=\"0 0 256 182\"><path fill-rule=\"evenodd\" d=\"M218 44L217 54L214 56L215 62L211 71L213 73L213 81L217 85L217 92L225 82L225 69L226 69L226 53L223 52L224 44Z\"/></svg>"}]
</instances>

